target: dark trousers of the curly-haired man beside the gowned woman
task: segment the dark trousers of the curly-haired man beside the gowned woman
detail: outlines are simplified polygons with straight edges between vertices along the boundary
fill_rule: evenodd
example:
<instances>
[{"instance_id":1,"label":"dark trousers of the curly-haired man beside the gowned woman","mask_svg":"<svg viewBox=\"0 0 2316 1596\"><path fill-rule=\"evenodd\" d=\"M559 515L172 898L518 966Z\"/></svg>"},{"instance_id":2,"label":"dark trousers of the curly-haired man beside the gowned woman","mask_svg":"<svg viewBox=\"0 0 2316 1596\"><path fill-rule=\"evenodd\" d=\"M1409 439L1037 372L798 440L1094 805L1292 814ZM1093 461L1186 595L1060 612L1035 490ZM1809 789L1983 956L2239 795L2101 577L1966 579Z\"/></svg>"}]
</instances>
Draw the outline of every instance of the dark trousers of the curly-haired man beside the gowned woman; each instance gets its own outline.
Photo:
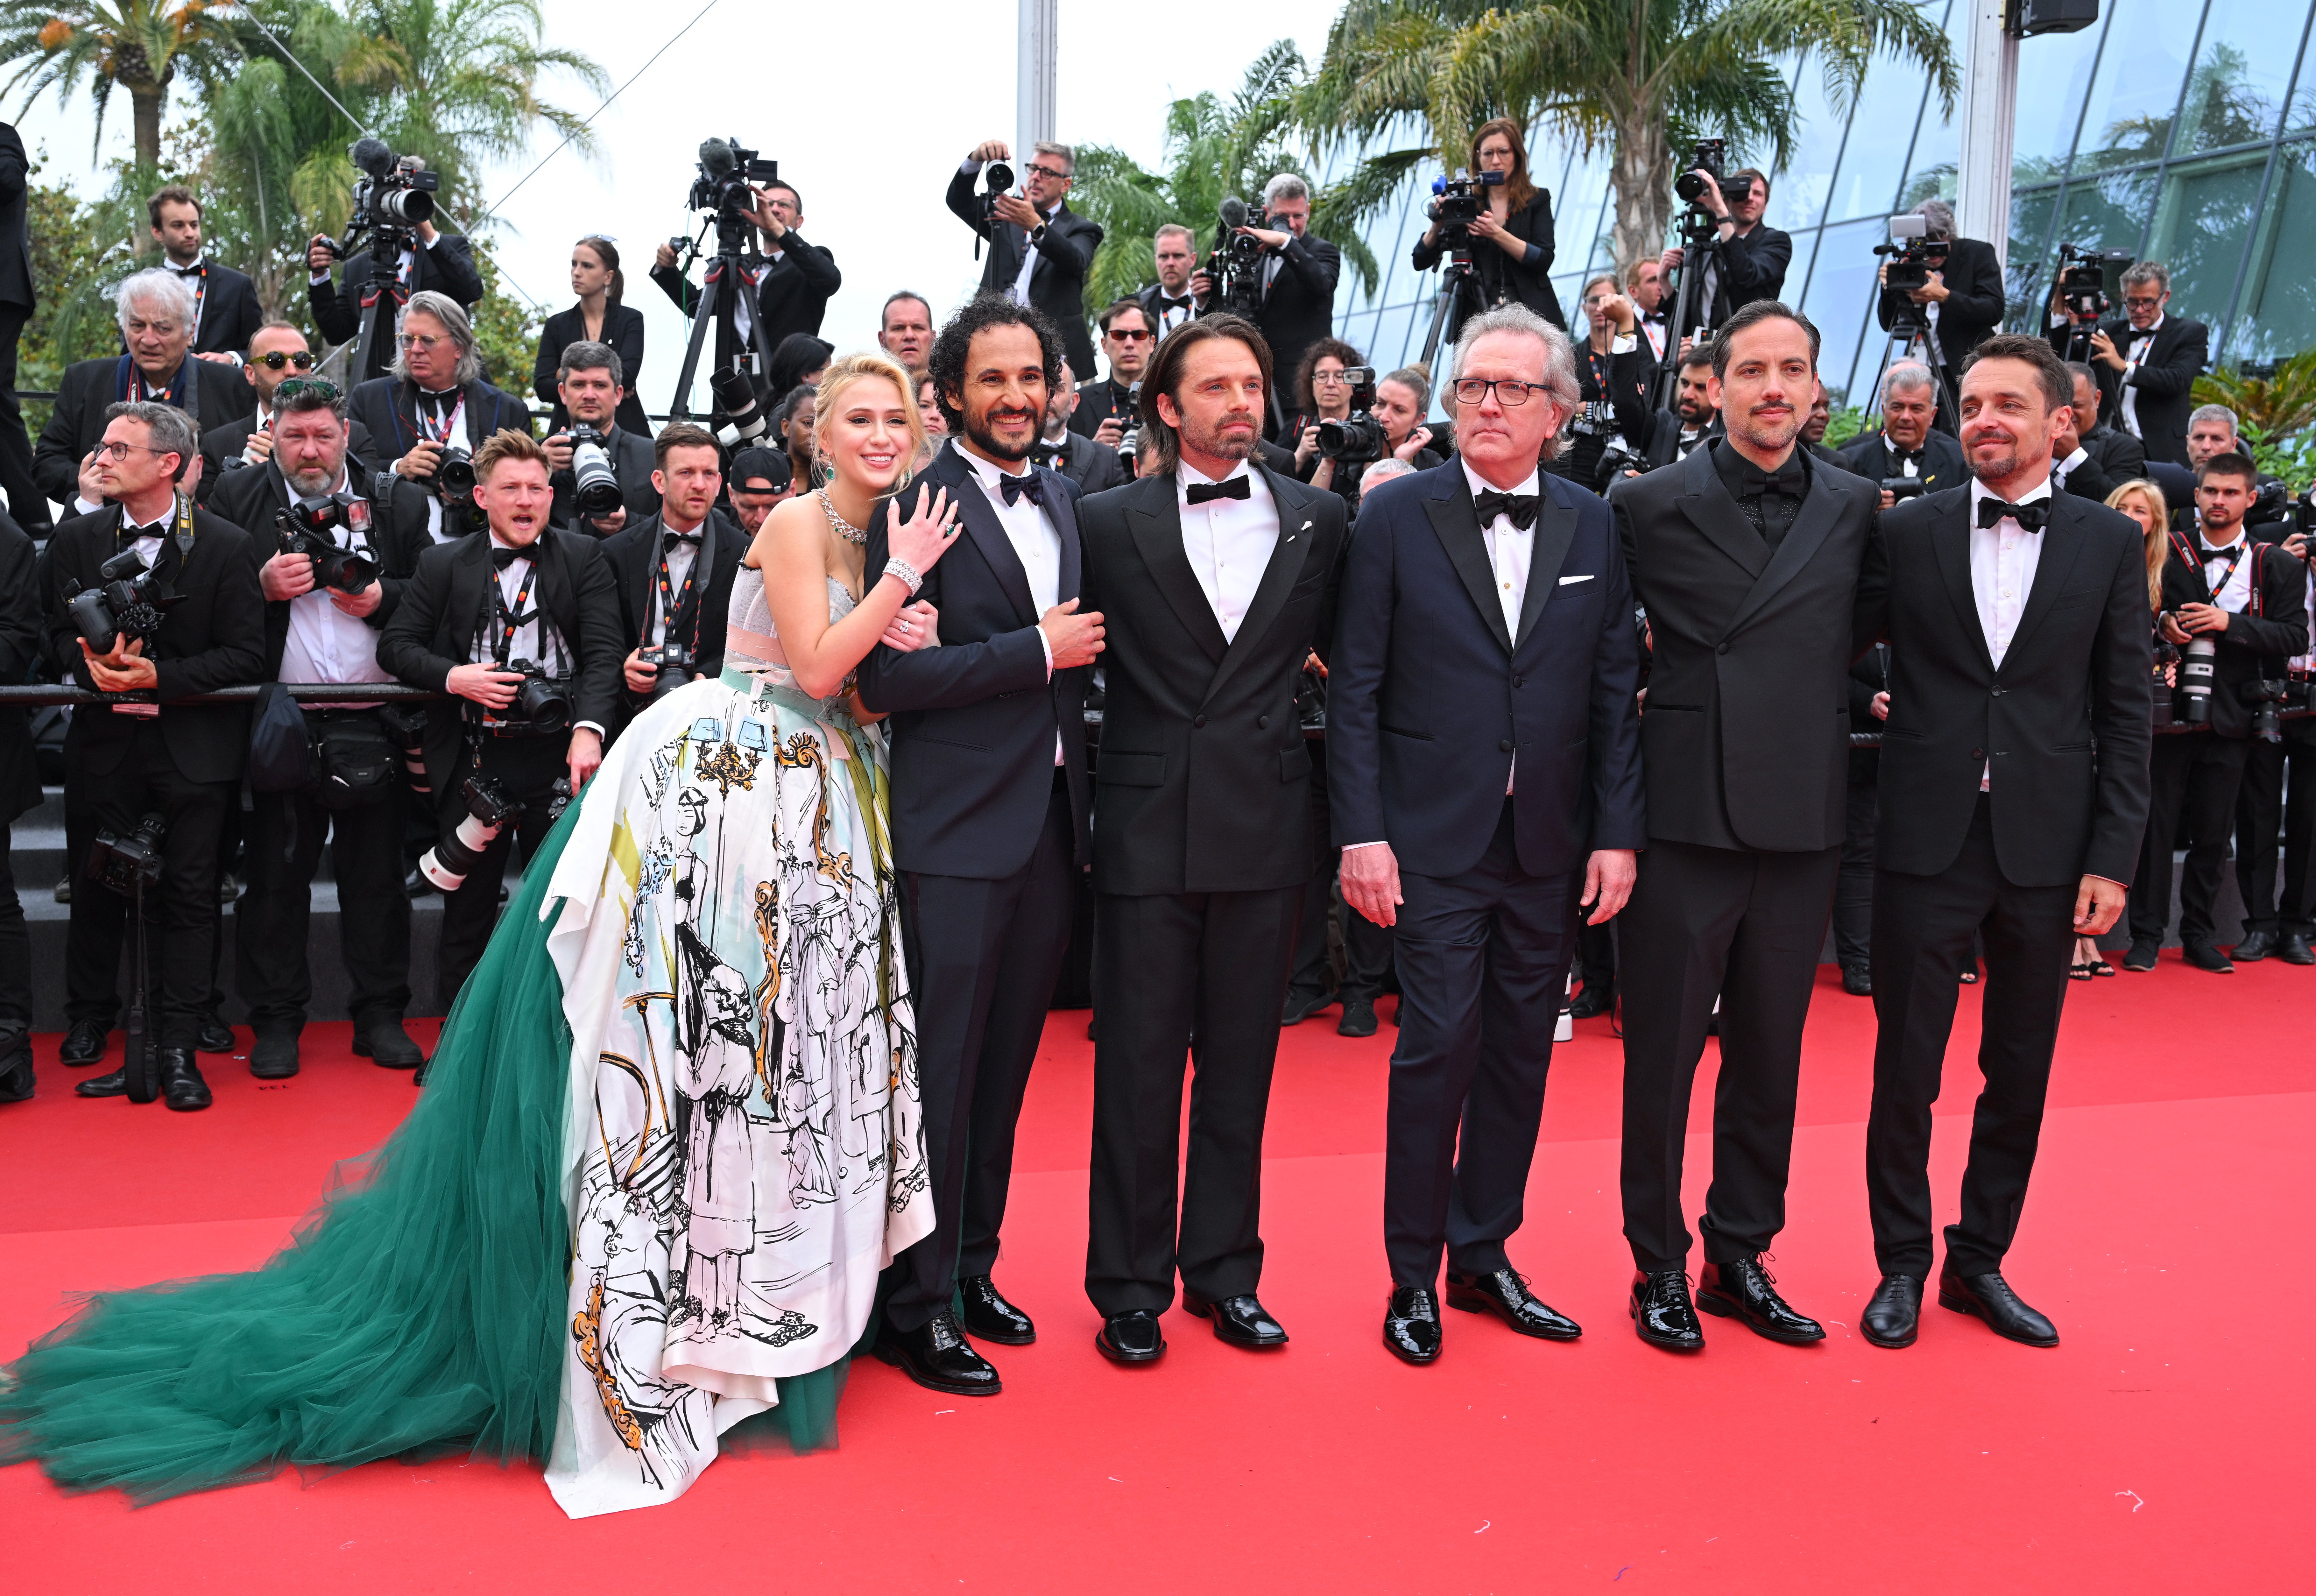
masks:
<instances>
[{"instance_id":1,"label":"dark trousers of the curly-haired man beside the gowned woman","mask_svg":"<svg viewBox=\"0 0 2316 1596\"><path fill-rule=\"evenodd\" d=\"M917 1015L917 1091L933 1235L894 1258L885 1320L922 1330L959 1276L989 1274L1012 1188L1014 1123L1077 908L1070 790L1012 876L901 876L901 945ZM1276 1028L1278 1017L1271 1017Z\"/></svg>"}]
</instances>

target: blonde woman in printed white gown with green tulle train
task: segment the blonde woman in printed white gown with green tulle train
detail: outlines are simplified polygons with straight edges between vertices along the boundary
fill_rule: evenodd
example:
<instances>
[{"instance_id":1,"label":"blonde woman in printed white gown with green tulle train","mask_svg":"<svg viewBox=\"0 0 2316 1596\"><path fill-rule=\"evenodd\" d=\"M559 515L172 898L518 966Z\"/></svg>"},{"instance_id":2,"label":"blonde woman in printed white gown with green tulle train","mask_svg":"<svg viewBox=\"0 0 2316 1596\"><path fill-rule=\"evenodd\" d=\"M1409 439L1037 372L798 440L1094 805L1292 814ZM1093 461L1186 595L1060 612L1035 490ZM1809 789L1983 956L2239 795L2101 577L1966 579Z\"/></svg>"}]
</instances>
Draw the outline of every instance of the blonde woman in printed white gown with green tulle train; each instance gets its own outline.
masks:
<instances>
[{"instance_id":1,"label":"blonde woman in printed white gown with green tulle train","mask_svg":"<svg viewBox=\"0 0 2316 1596\"><path fill-rule=\"evenodd\" d=\"M547 1464L572 1517L739 1434L831 1436L875 1276L931 1230L882 732L945 496L908 375L820 385L824 489L764 521L725 674L614 744L523 873L410 1119L255 1274L102 1293L0 1371L0 1459L141 1501L380 1457ZM750 1422L753 1420L753 1422Z\"/></svg>"}]
</instances>

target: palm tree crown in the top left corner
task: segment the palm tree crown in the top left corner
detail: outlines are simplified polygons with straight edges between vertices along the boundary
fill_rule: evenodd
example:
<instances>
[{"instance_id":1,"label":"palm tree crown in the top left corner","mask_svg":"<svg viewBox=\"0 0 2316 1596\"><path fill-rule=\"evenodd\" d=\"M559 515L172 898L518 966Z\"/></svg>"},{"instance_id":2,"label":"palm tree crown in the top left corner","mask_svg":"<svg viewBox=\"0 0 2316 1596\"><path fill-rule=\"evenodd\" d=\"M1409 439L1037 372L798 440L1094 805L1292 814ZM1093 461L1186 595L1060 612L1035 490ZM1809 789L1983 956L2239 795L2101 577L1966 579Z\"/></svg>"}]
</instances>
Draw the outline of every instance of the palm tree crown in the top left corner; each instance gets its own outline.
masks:
<instances>
[{"instance_id":1,"label":"palm tree crown in the top left corner","mask_svg":"<svg viewBox=\"0 0 2316 1596\"><path fill-rule=\"evenodd\" d=\"M169 83L178 69L206 86L232 60L227 12L234 0L111 0L111 5L56 5L53 0L0 0L0 63L14 63L7 88L23 88L23 104L56 88L69 100L88 79L104 141L104 111L113 90L130 95L137 164L160 164L160 120L169 107Z\"/></svg>"}]
</instances>

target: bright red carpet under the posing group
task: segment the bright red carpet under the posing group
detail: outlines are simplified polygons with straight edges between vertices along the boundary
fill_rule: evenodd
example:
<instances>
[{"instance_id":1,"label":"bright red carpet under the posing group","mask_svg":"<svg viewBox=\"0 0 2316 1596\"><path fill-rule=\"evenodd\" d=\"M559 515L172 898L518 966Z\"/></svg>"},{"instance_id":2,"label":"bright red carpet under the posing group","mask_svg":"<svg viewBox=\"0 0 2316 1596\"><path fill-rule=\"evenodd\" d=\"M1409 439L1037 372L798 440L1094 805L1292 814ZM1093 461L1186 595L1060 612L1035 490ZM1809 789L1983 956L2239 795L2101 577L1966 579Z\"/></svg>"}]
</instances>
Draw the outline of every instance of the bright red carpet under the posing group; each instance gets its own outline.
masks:
<instances>
[{"instance_id":1,"label":"bright red carpet under the posing group","mask_svg":"<svg viewBox=\"0 0 2316 1596\"><path fill-rule=\"evenodd\" d=\"M1170 1313L1165 1362L1121 1371L1079 1286L1091 1047L1061 1012L998 1265L1042 1341L994 1350L1003 1397L940 1399L864 1364L838 1452L725 1459L672 1508L581 1524L528 1469L378 1464L146 1510L5 1469L0 1591L2291 1589L2316 1478L2311 1019L2316 973L2277 964L2216 980L2168 957L2075 984L2010 1258L2064 1346L1929 1309L1922 1341L1885 1353L1853 1332L1874 1286L1871 1005L1827 980L1776 1272L1832 1339L1707 1320L1693 1360L1644 1348L1624 1313L1621 1054L1582 1024L1554 1056L1512 1251L1589 1334L1547 1346L1450 1313L1441 1364L1403 1369L1378 1344L1392 1028L1341 1040L1329 1010L1285 1033L1267 1142L1262 1295L1295 1344L1255 1357ZM331 1161L412 1100L405 1075L343 1052L345 1026L313 1026L306 1072L278 1086L204 1061L208 1114L74 1100L81 1072L42 1042L42 1096L0 1110L0 1355L69 1290L257 1265ZM1964 994L1941 1221L1973 1047ZM1700 1079L1693 1130L1707 1103ZM1691 1211L1702 1158L1691 1140Z\"/></svg>"}]
</instances>

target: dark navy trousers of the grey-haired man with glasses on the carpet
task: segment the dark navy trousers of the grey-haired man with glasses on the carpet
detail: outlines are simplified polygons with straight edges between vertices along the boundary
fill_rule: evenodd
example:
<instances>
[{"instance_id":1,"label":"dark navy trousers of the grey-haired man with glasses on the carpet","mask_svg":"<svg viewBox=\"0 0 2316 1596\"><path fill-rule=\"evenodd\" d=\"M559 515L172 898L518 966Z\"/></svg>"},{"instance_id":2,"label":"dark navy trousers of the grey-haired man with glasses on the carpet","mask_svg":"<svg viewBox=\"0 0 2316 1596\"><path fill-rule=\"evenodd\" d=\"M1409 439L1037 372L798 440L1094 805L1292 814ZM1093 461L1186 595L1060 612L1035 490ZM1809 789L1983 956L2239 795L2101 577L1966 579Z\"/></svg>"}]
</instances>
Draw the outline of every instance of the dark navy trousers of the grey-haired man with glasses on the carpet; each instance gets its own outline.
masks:
<instances>
[{"instance_id":1,"label":"dark navy trousers of the grey-haired man with glasses on the carpet","mask_svg":"<svg viewBox=\"0 0 2316 1596\"><path fill-rule=\"evenodd\" d=\"M1510 1267L1584 878L1519 869L1505 799L1475 866L1399 892L1383 1253L1392 1286L1436 1288L1443 1251L1457 1274Z\"/></svg>"}]
</instances>

